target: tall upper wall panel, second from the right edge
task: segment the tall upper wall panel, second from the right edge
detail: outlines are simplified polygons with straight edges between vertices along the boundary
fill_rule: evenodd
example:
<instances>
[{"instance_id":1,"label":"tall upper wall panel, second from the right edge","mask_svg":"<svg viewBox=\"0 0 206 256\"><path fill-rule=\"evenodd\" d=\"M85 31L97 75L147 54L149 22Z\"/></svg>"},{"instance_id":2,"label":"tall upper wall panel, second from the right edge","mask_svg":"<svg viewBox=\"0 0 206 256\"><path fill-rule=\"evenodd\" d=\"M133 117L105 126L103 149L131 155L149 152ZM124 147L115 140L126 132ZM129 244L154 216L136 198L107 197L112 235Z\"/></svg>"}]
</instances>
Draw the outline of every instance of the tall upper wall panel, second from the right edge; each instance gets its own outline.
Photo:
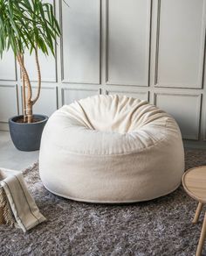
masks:
<instances>
[{"instance_id":1,"label":"tall upper wall panel, second from the right edge","mask_svg":"<svg viewBox=\"0 0 206 256\"><path fill-rule=\"evenodd\" d=\"M106 3L107 83L148 86L151 1Z\"/></svg>"}]
</instances>

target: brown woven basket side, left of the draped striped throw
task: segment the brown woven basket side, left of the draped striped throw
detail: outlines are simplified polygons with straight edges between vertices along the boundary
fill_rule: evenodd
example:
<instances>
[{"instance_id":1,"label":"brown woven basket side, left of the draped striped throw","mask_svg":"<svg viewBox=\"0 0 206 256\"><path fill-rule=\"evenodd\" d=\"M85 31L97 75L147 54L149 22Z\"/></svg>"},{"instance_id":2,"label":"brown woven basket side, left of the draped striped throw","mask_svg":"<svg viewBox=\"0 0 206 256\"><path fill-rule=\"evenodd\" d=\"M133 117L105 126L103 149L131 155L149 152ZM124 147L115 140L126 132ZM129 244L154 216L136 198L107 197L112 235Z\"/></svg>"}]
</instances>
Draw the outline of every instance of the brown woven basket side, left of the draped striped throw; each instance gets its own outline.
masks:
<instances>
[{"instance_id":1,"label":"brown woven basket side, left of the draped striped throw","mask_svg":"<svg viewBox=\"0 0 206 256\"><path fill-rule=\"evenodd\" d=\"M0 224L14 226L15 219L10 210L10 203L7 200L4 189L0 186Z\"/></svg>"}]
</instances>

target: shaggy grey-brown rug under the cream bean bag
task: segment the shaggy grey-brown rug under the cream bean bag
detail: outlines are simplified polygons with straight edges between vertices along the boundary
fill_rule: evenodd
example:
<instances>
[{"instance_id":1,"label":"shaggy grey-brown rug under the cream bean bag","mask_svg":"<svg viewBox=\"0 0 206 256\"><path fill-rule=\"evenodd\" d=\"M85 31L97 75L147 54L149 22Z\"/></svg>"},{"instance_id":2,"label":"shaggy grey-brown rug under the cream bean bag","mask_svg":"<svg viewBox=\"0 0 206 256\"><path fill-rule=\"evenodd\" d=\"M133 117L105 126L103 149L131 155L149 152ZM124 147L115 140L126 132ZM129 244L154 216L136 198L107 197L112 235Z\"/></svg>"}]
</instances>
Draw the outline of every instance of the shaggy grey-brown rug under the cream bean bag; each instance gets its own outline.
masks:
<instances>
[{"instance_id":1,"label":"shaggy grey-brown rug under the cream bean bag","mask_svg":"<svg viewBox=\"0 0 206 256\"><path fill-rule=\"evenodd\" d=\"M206 151L187 150L186 169L200 165L206 165ZM152 201L106 205L78 203L52 195L39 180L38 164L25 170L24 175L47 222L25 234L1 225L1 256L196 253L203 213L198 224L191 223L197 203L182 186Z\"/></svg>"}]
</instances>

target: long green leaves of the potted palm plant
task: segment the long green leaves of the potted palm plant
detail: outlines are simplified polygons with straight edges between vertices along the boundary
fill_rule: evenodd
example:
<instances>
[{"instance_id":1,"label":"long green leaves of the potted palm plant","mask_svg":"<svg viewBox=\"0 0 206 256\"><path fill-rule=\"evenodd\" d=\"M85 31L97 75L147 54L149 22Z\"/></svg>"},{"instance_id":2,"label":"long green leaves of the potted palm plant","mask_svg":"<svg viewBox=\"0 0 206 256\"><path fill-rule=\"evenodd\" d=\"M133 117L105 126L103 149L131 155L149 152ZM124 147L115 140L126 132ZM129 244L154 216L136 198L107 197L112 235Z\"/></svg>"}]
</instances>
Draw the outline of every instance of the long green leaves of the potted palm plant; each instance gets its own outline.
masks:
<instances>
[{"instance_id":1,"label":"long green leaves of the potted palm plant","mask_svg":"<svg viewBox=\"0 0 206 256\"><path fill-rule=\"evenodd\" d=\"M42 0L0 0L0 56L12 48L15 55L30 53L38 46L55 54L60 36L52 4Z\"/></svg>"}]
</instances>

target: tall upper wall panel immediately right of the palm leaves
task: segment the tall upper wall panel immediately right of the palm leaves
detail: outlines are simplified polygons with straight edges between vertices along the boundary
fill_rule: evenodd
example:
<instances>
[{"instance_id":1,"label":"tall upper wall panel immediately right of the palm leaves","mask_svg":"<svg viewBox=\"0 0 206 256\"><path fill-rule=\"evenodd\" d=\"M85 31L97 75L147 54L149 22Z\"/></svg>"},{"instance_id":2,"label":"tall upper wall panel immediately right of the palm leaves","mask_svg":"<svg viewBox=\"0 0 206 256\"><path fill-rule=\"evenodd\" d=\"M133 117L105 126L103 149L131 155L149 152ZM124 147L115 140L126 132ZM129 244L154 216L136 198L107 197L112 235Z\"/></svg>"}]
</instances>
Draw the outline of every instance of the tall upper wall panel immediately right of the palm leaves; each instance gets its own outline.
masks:
<instances>
[{"instance_id":1,"label":"tall upper wall panel immediately right of the palm leaves","mask_svg":"<svg viewBox=\"0 0 206 256\"><path fill-rule=\"evenodd\" d=\"M62 1L64 82L100 83L100 0Z\"/></svg>"}]
</instances>

